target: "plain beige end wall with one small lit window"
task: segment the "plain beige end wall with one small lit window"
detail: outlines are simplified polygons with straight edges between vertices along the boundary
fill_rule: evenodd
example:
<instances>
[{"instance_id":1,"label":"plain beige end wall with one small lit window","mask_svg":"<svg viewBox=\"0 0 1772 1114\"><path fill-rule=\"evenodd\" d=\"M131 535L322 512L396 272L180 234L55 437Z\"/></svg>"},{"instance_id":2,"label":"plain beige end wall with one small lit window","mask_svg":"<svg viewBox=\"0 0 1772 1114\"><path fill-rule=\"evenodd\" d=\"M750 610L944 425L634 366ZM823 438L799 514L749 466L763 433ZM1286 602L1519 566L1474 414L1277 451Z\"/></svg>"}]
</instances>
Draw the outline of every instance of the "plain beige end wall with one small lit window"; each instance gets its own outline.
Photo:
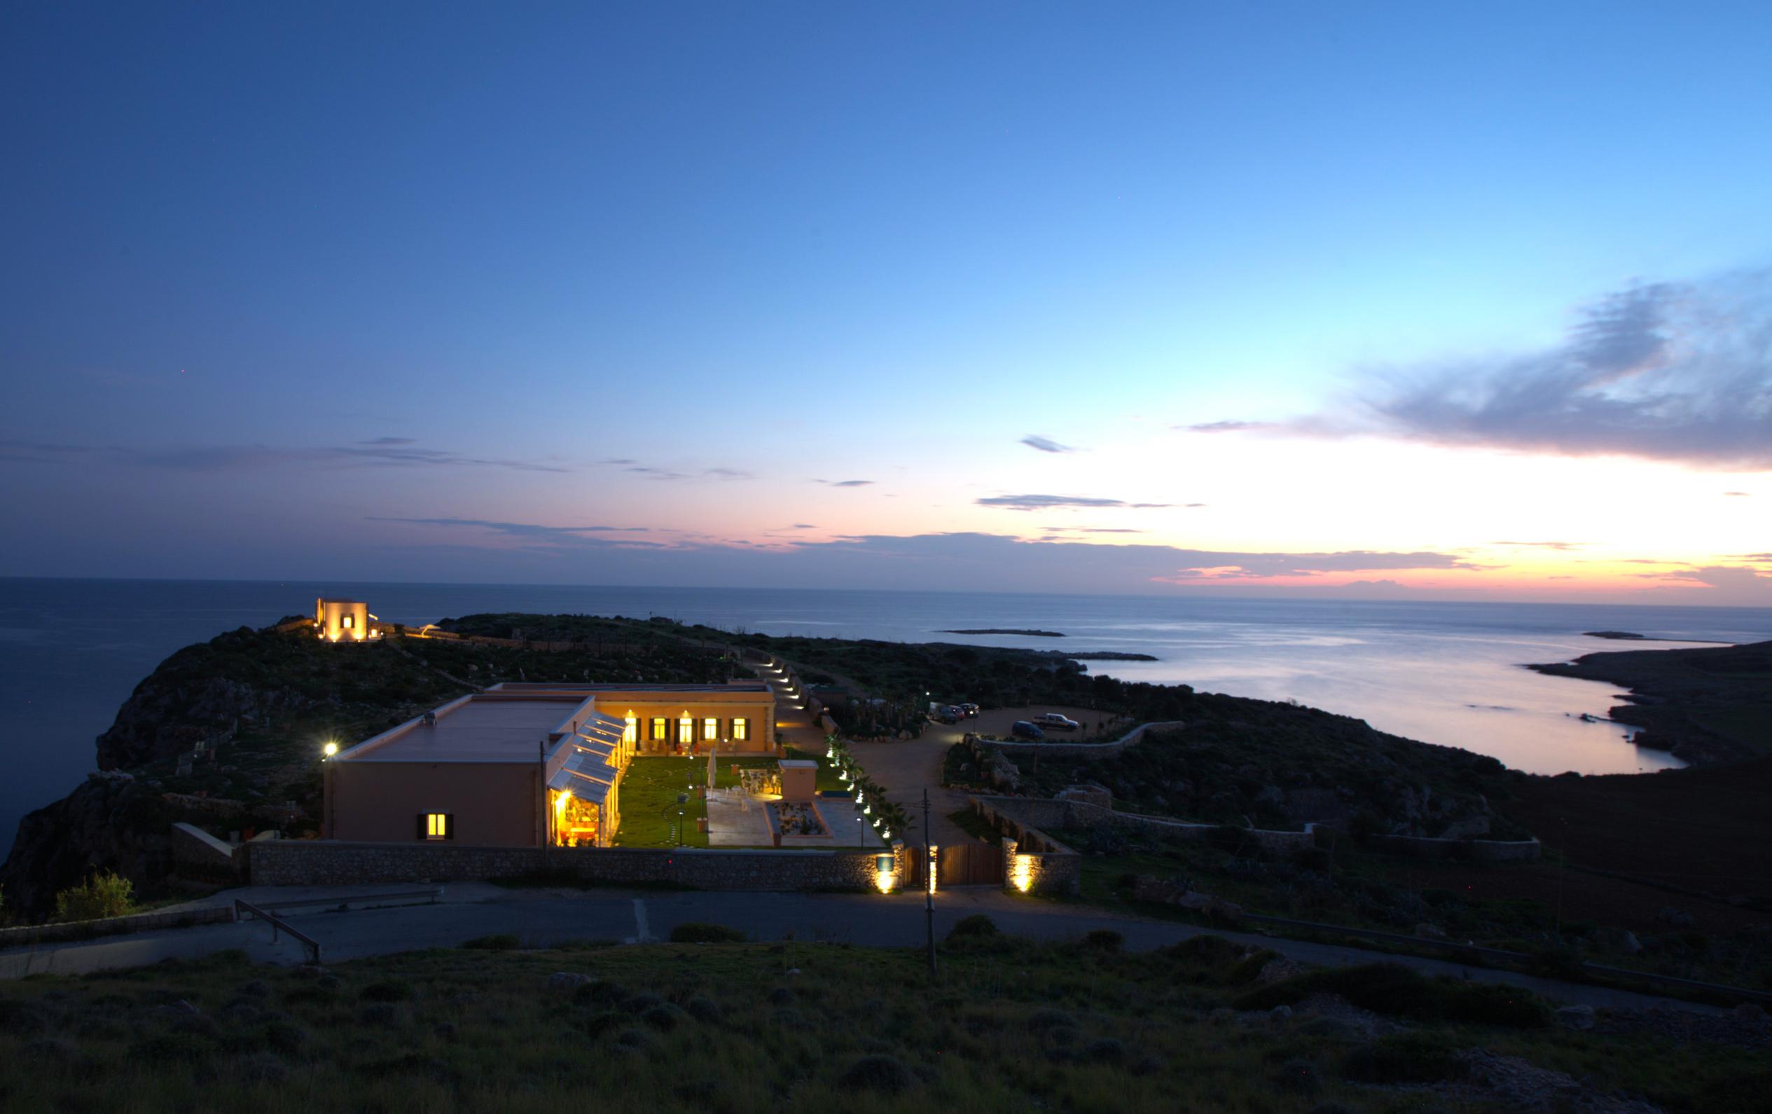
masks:
<instances>
[{"instance_id":1,"label":"plain beige end wall with one small lit window","mask_svg":"<svg viewBox=\"0 0 1772 1114\"><path fill-rule=\"evenodd\" d=\"M422 843L422 812L452 812L454 843L540 846L539 763L326 765L328 839Z\"/></svg>"}]
</instances>

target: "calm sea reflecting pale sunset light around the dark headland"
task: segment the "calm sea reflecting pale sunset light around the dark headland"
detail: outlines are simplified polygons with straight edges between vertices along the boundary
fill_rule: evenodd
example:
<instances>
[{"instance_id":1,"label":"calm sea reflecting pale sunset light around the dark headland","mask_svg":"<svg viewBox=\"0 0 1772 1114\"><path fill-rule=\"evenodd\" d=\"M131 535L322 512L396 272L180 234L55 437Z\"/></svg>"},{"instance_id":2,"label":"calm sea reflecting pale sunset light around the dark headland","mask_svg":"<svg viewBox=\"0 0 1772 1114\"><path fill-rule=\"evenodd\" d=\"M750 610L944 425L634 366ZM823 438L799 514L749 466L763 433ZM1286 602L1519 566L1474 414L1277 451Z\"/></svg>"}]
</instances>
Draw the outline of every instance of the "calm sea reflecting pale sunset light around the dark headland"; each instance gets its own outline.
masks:
<instances>
[{"instance_id":1,"label":"calm sea reflecting pale sunset light around the dark headland","mask_svg":"<svg viewBox=\"0 0 1772 1114\"><path fill-rule=\"evenodd\" d=\"M672 616L727 630L842 639L950 640L1037 649L1125 649L1157 662L1099 662L1127 679L1297 699L1396 734L1494 754L1535 773L1616 773L1673 763L1604 715L1614 688L1519 665L1625 644L1584 630L1660 639L1772 639L1772 608L1519 603L1021 596L868 591L548 587L501 584L275 584L0 578L0 853L19 816L94 766L92 740L167 655L236 626L307 614L314 598L369 600L388 621L470 612ZM1065 639L946 635L1040 628ZM1675 646L1644 642L1628 646Z\"/></svg>"}]
</instances>

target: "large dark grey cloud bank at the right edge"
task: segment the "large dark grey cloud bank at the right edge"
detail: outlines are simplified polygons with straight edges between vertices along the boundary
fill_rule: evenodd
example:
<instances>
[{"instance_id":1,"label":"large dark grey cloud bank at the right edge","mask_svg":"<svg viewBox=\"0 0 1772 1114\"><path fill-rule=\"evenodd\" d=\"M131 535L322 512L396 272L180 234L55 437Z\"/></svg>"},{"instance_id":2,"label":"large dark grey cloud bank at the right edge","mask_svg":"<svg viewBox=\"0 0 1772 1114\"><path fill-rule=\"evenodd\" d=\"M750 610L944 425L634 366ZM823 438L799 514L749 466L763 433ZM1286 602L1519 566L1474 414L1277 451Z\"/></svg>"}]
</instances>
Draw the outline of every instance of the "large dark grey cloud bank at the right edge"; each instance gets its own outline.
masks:
<instances>
[{"instance_id":1,"label":"large dark grey cloud bank at the right edge","mask_svg":"<svg viewBox=\"0 0 1772 1114\"><path fill-rule=\"evenodd\" d=\"M1302 433L1772 468L1772 271L1630 286L1542 351L1382 376Z\"/></svg>"}]
</instances>

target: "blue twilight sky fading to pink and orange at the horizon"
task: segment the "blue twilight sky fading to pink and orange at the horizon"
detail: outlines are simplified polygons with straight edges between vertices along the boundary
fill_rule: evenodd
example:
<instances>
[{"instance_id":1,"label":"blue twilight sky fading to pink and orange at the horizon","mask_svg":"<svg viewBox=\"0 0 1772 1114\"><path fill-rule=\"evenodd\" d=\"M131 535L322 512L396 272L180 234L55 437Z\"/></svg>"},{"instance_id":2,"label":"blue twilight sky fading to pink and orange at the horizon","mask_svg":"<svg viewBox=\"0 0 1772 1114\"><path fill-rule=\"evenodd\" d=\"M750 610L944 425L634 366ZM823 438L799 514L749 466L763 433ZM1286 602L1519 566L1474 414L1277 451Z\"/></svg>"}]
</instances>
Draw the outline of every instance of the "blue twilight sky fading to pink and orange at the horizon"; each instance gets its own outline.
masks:
<instances>
[{"instance_id":1,"label":"blue twilight sky fading to pink and orange at the horizon","mask_svg":"<svg viewBox=\"0 0 1772 1114\"><path fill-rule=\"evenodd\" d=\"M1772 5L0 14L0 575L1772 603Z\"/></svg>"}]
</instances>

